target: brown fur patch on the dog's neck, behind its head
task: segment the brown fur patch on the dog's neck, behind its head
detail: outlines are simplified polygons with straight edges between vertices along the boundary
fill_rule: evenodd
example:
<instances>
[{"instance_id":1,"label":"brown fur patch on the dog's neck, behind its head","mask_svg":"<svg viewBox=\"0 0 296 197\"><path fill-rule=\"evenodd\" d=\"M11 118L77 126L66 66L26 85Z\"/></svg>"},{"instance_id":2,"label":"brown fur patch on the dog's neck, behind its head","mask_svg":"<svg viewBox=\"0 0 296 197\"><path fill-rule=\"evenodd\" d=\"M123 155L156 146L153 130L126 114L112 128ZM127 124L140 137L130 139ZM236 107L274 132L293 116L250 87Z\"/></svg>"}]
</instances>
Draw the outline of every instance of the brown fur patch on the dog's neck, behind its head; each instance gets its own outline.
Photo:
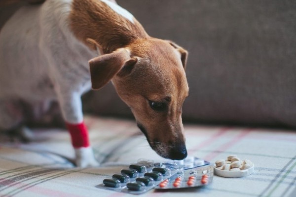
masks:
<instances>
[{"instance_id":1,"label":"brown fur patch on the dog's neck, behind its head","mask_svg":"<svg viewBox=\"0 0 296 197\"><path fill-rule=\"evenodd\" d=\"M74 0L72 6L71 28L76 37L87 45L87 38L95 40L104 53L111 53L135 39L148 38L136 19L133 24L102 1Z\"/></svg>"}]
</instances>

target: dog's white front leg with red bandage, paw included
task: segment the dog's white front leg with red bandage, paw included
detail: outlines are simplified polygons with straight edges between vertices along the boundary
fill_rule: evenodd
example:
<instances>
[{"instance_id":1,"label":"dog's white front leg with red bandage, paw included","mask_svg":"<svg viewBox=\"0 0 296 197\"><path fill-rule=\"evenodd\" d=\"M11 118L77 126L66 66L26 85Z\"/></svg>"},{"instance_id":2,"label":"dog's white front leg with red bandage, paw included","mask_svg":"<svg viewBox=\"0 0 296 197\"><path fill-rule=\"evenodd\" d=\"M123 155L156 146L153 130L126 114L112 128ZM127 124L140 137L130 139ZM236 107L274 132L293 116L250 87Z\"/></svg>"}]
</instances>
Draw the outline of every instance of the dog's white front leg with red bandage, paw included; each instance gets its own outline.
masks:
<instances>
[{"instance_id":1,"label":"dog's white front leg with red bandage, paw included","mask_svg":"<svg viewBox=\"0 0 296 197\"><path fill-rule=\"evenodd\" d=\"M69 90L58 90L57 94L62 114L71 135L76 165L79 167L98 165L89 143L87 128L83 122L80 94Z\"/></svg>"}]
</instances>

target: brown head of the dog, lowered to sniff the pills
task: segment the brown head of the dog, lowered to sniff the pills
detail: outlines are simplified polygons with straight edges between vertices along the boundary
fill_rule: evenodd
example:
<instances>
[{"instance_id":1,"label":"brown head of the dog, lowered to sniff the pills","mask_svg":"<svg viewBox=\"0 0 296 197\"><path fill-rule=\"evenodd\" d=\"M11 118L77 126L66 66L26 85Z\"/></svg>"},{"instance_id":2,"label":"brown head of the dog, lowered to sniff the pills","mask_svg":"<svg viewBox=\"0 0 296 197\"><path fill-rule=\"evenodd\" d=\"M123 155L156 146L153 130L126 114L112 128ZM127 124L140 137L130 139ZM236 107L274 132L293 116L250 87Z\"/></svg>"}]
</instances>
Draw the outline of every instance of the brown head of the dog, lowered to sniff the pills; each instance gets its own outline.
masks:
<instances>
[{"instance_id":1,"label":"brown head of the dog, lowered to sniff the pills","mask_svg":"<svg viewBox=\"0 0 296 197\"><path fill-rule=\"evenodd\" d=\"M93 89L112 80L138 127L160 156L187 156L182 105L188 96L187 52L171 41L149 38L90 60Z\"/></svg>"}]
</instances>

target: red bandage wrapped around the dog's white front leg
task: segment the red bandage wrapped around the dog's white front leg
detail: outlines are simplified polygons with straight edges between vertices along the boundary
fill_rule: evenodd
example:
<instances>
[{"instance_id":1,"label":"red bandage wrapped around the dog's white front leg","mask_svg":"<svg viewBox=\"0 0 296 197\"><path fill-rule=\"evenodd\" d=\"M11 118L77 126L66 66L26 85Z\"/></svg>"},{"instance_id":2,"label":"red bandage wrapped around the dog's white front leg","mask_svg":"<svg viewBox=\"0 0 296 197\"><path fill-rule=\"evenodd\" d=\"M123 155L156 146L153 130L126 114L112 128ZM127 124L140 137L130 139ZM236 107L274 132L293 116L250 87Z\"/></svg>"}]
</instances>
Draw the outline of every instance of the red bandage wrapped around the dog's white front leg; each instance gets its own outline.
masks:
<instances>
[{"instance_id":1,"label":"red bandage wrapped around the dog's white front leg","mask_svg":"<svg viewBox=\"0 0 296 197\"><path fill-rule=\"evenodd\" d=\"M66 123L74 148L89 147L88 131L84 122L79 124Z\"/></svg>"}]
</instances>

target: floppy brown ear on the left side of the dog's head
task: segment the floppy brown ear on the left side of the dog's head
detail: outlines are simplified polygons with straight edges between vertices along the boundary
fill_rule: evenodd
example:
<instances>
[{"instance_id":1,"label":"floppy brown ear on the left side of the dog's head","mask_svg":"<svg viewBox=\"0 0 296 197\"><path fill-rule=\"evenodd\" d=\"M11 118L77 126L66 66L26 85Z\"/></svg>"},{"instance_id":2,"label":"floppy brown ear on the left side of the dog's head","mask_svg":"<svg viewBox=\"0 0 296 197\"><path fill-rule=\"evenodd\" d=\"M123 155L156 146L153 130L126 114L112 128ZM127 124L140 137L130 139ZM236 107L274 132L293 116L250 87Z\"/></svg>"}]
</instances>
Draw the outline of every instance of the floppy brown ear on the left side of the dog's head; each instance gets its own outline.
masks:
<instances>
[{"instance_id":1,"label":"floppy brown ear on the left side of the dog's head","mask_svg":"<svg viewBox=\"0 0 296 197\"><path fill-rule=\"evenodd\" d=\"M89 66L92 88L94 90L102 88L119 71L121 75L130 72L136 63L137 61L130 58L129 52L124 48L91 59Z\"/></svg>"}]
</instances>

